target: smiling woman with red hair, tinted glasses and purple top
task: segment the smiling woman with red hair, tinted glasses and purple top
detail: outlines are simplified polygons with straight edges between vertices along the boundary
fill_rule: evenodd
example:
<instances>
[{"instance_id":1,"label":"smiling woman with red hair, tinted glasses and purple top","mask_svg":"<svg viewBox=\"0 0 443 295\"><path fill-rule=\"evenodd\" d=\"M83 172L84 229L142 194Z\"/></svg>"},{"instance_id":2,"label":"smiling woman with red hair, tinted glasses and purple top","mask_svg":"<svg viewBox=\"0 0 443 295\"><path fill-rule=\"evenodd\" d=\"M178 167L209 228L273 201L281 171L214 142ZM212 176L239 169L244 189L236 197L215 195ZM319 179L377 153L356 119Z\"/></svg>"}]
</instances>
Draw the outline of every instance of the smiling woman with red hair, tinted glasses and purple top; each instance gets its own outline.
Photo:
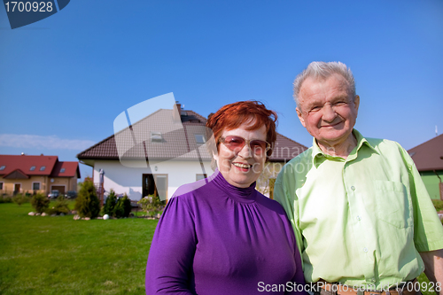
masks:
<instances>
[{"instance_id":1,"label":"smiling woman with red hair, tinted glasses and purple top","mask_svg":"<svg viewBox=\"0 0 443 295\"><path fill-rule=\"evenodd\" d=\"M238 102L223 106L206 126L214 132L217 169L169 200L152 239L146 294L303 290L291 223L276 201L255 190L276 141L276 113L259 102Z\"/></svg>"}]
</instances>

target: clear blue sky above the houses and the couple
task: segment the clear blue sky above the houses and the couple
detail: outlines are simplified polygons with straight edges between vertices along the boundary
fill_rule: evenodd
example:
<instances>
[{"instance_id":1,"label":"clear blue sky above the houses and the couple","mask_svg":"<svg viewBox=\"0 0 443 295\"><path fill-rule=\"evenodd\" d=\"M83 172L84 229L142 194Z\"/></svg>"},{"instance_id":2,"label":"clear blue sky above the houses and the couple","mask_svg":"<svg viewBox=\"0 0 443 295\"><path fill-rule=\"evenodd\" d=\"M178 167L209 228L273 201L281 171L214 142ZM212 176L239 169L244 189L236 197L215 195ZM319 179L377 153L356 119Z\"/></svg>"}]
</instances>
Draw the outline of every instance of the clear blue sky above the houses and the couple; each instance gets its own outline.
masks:
<instances>
[{"instance_id":1,"label":"clear blue sky above the houses and the couple","mask_svg":"<svg viewBox=\"0 0 443 295\"><path fill-rule=\"evenodd\" d=\"M13 30L0 7L0 153L77 160L169 92L204 116L260 100L310 146L291 88L314 60L353 70L363 135L410 149L443 132L441 0L73 0Z\"/></svg>"}]
</instances>

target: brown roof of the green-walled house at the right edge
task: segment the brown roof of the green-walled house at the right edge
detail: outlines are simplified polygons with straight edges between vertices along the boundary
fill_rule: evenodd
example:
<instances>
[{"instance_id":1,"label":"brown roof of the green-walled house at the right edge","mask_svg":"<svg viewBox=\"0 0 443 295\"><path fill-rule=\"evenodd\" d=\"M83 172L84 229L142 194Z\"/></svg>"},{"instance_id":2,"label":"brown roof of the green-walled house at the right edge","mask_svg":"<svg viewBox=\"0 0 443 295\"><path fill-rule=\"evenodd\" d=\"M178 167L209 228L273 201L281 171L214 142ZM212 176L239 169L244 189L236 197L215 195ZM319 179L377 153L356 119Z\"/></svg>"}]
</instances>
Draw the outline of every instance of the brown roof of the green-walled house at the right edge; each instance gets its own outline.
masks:
<instances>
[{"instance_id":1,"label":"brown roof of the green-walled house at the right edge","mask_svg":"<svg viewBox=\"0 0 443 295\"><path fill-rule=\"evenodd\" d=\"M443 170L443 135L417 145L408 153L414 159L418 171Z\"/></svg>"}]
</instances>

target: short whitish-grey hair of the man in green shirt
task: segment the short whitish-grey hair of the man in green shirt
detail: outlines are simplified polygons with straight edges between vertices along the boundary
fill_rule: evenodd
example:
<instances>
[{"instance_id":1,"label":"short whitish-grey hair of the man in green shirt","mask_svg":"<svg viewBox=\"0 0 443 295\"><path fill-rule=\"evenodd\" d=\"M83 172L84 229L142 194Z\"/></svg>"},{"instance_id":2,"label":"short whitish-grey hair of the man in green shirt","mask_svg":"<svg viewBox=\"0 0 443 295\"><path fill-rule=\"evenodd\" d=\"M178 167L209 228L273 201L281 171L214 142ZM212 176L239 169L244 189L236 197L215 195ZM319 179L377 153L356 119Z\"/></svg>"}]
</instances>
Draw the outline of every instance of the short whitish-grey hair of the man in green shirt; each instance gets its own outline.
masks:
<instances>
[{"instance_id":1,"label":"short whitish-grey hair of the man in green shirt","mask_svg":"<svg viewBox=\"0 0 443 295\"><path fill-rule=\"evenodd\" d=\"M301 72L294 81L294 100L297 106L299 106L299 92L303 82L307 78L321 79L325 80L329 78L332 74L340 74L349 83L349 94L355 97L355 81L353 72L345 64L339 61L313 61L307 66L307 68Z\"/></svg>"}]
</instances>

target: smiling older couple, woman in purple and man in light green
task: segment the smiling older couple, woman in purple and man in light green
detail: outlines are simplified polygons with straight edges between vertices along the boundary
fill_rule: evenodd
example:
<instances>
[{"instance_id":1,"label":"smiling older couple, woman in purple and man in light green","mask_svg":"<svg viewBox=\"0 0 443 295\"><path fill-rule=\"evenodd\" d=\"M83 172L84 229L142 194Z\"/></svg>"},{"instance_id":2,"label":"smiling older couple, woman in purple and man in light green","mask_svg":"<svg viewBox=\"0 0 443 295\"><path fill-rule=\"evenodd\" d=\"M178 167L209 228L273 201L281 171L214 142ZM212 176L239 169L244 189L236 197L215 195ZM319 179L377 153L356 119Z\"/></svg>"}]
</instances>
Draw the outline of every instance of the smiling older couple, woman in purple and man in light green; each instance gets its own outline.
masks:
<instances>
[{"instance_id":1,"label":"smiling older couple, woman in purple and man in light green","mask_svg":"<svg viewBox=\"0 0 443 295\"><path fill-rule=\"evenodd\" d=\"M255 190L276 113L245 101L207 120L217 168L169 200L146 294L412 295L422 272L431 283L421 289L443 294L441 223L408 152L354 129L351 71L313 62L294 98L314 140L278 175L278 203Z\"/></svg>"}]
</instances>

